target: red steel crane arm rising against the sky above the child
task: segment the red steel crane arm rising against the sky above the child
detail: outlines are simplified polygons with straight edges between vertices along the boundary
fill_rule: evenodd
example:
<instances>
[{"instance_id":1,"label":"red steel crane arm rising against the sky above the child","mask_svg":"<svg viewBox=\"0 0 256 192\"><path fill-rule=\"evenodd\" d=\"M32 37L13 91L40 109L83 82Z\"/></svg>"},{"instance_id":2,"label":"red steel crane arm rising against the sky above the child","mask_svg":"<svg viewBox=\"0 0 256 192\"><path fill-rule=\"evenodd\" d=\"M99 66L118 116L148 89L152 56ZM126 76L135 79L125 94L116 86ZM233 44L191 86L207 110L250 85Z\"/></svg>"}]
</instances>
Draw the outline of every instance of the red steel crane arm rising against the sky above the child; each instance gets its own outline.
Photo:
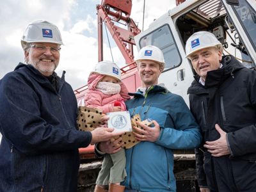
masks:
<instances>
[{"instance_id":1,"label":"red steel crane arm rising against the sky above the child","mask_svg":"<svg viewBox=\"0 0 256 192\"><path fill-rule=\"evenodd\" d=\"M131 8L131 0L102 0L102 3L97 5L99 61L103 60L102 22L105 23L116 45L122 52L125 63L130 64L134 61L132 47L132 45L135 45L134 36L140 33L141 30L130 18ZM117 22L124 23L127 29L116 26Z\"/></svg>"}]
</instances>

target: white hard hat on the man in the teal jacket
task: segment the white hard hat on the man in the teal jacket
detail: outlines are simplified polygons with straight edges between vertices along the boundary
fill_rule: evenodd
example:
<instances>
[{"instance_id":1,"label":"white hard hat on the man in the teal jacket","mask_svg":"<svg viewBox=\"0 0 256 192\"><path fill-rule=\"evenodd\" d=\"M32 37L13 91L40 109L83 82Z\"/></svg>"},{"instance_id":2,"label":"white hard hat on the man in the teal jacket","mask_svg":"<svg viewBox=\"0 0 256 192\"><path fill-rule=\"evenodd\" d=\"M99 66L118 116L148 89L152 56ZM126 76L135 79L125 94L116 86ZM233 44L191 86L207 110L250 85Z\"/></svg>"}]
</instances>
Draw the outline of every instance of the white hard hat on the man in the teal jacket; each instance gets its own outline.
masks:
<instances>
[{"instance_id":1,"label":"white hard hat on the man in the teal jacket","mask_svg":"<svg viewBox=\"0 0 256 192\"><path fill-rule=\"evenodd\" d=\"M143 47L135 58L136 63L140 60L152 60L161 63L164 67L164 55L161 49L156 46L148 45Z\"/></svg>"}]
</instances>

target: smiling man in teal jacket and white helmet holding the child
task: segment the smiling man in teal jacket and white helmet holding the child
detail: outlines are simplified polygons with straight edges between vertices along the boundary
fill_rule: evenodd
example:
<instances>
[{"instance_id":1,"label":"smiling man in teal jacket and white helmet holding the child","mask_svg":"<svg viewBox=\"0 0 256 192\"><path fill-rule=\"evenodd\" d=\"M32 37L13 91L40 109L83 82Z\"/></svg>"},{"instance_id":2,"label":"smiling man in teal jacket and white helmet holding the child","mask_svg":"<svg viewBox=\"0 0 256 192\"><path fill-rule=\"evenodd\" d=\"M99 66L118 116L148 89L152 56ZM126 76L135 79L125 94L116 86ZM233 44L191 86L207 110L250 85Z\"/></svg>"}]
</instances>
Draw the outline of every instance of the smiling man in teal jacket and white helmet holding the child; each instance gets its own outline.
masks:
<instances>
[{"instance_id":1,"label":"smiling man in teal jacket and white helmet holding the child","mask_svg":"<svg viewBox=\"0 0 256 192\"><path fill-rule=\"evenodd\" d=\"M153 126L140 124L136 138L141 142L125 150L127 163L125 191L176 191L173 174L173 149L195 148L202 136L188 106L179 95L169 92L158 77L164 70L163 52L154 46L143 47L136 58L141 88L126 102L131 115L152 119ZM102 152L115 152L112 145L100 143ZM114 150L115 149L115 150Z\"/></svg>"}]
</instances>

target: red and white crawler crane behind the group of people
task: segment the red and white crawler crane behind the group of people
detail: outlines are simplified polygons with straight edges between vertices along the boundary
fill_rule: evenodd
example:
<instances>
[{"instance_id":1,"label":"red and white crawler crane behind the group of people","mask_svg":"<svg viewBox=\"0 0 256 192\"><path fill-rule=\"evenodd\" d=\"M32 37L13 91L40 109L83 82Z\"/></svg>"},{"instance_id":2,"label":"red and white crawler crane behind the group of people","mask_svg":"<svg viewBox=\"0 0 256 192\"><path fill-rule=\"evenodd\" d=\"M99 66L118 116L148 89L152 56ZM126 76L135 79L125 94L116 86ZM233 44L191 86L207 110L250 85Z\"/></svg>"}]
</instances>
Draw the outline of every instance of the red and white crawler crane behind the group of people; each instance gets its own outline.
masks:
<instances>
[{"instance_id":1,"label":"red and white crawler crane behind the group of people","mask_svg":"<svg viewBox=\"0 0 256 192\"><path fill-rule=\"evenodd\" d=\"M102 24L105 24L127 63L122 68L122 81L129 92L134 92L140 86L140 77L133 60L133 45L138 50L146 45L155 45L163 51L166 61L159 83L164 83L170 92L181 95L188 104L187 90L195 71L186 58L184 47L188 37L196 31L211 31L223 44L224 54L232 54L244 66L255 69L255 0L177 0L176 3L175 8L154 20L143 32L130 17L132 1L103 0L97 6L99 61L103 60ZM121 29L119 22L123 22L127 29ZM86 88L83 86L74 91L79 106L84 105ZM92 191L99 172L100 159L95 158L93 146L79 151L82 162L79 189ZM174 173L177 191L198 191L193 151L175 152Z\"/></svg>"}]
</instances>

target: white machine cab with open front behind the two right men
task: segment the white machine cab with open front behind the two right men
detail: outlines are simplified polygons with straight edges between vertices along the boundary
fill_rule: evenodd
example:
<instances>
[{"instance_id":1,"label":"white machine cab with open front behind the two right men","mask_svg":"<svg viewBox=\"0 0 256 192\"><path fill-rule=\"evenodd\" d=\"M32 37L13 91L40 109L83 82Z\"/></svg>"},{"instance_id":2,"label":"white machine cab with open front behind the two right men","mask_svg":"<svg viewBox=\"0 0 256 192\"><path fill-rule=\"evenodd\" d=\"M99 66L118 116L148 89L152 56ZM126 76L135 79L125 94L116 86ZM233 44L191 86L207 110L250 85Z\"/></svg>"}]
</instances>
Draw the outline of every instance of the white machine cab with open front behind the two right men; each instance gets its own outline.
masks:
<instances>
[{"instance_id":1,"label":"white machine cab with open front behind the two right men","mask_svg":"<svg viewBox=\"0 0 256 192\"><path fill-rule=\"evenodd\" d=\"M244 66L256 63L256 2L253 0L185 1L154 20L149 28L135 36L137 48L155 45L164 53L166 66L159 77L172 93L188 104L187 90L195 71L186 58L185 44L196 31L211 31L224 47Z\"/></svg>"}]
</instances>

